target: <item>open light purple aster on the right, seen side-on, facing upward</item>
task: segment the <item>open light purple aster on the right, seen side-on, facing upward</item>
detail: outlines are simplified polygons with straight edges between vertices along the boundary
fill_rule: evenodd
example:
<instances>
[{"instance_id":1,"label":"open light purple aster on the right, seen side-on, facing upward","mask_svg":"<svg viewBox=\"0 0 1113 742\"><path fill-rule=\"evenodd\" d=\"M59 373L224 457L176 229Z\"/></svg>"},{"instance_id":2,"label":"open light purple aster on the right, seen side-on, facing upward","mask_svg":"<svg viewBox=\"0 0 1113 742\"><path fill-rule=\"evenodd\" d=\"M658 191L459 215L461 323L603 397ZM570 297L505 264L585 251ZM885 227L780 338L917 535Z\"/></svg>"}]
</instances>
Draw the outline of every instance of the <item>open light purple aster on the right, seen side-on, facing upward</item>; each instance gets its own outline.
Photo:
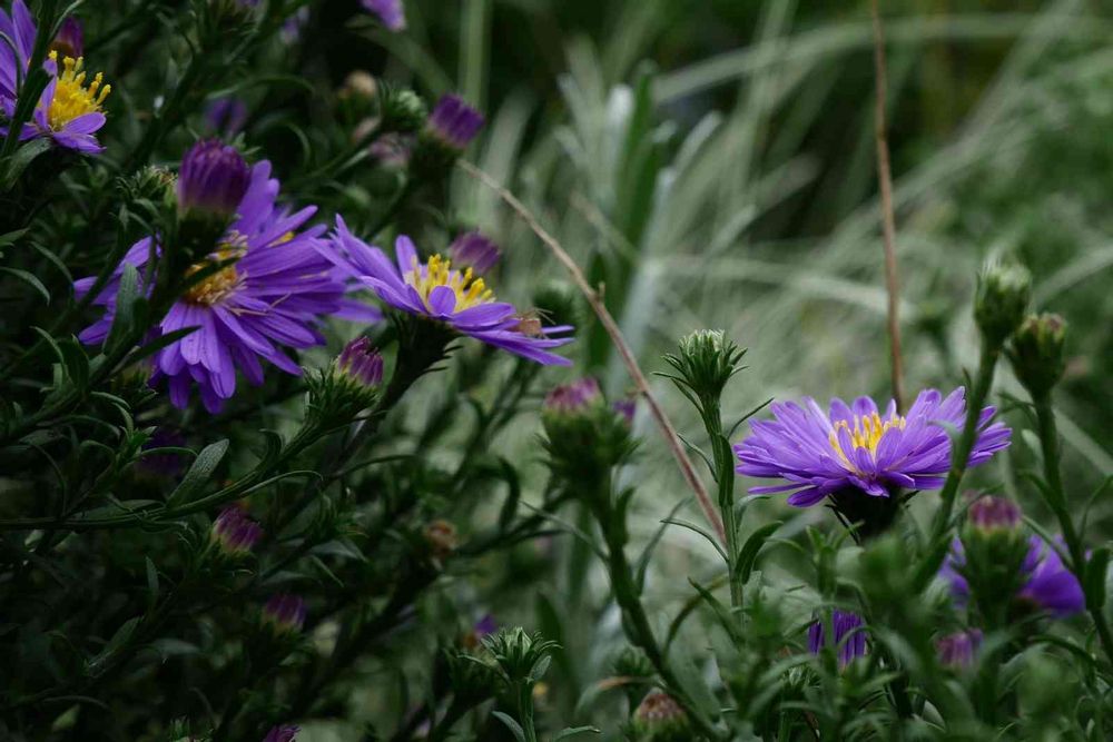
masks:
<instances>
[{"instance_id":1,"label":"open light purple aster on the right, seen side-on, facing upward","mask_svg":"<svg viewBox=\"0 0 1113 742\"><path fill-rule=\"evenodd\" d=\"M752 494L791 492L790 505L807 507L843 489L888 497L893 487L938 489L951 467L948 427L962 428L965 392L946 398L925 389L905 415L889 403L881 415L869 397L850 407L833 399L827 413L810 397L804 405L772 405L774 421L751 423L746 441L735 446L739 474L788 479L754 487ZM983 464L1008 445L1009 429L989 425L994 408L977 421L978 436L968 466Z\"/></svg>"}]
</instances>

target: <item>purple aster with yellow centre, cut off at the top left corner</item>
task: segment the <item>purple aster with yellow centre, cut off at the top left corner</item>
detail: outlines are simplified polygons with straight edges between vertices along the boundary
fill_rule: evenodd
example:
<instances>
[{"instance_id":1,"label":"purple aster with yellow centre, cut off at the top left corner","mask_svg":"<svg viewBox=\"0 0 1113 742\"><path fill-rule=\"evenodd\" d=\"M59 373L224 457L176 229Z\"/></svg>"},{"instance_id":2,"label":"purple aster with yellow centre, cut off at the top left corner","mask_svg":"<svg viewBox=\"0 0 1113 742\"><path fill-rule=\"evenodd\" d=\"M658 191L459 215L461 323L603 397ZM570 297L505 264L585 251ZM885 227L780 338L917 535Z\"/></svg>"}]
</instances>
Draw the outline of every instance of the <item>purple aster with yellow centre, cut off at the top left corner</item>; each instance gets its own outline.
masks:
<instances>
[{"instance_id":1,"label":"purple aster with yellow centre, cut off at the top left corner","mask_svg":"<svg viewBox=\"0 0 1113 742\"><path fill-rule=\"evenodd\" d=\"M49 138L59 147L79 152L96 154L104 150L96 133L105 126L102 105L111 91L99 72L87 81L85 60L71 57L59 49L82 46L80 26L70 23L60 29L57 48L52 49L43 68L50 75L31 120L20 131L20 139ZM11 118L16 112L19 81L26 79L35 49L38 28L23 0L14 0L11 14L0 10L0 33L12 43L0 43L0 110ZM77 51L75 49L75 51ZM7 133L7 130L0 129Z\"/></svg>"}]
</instances>

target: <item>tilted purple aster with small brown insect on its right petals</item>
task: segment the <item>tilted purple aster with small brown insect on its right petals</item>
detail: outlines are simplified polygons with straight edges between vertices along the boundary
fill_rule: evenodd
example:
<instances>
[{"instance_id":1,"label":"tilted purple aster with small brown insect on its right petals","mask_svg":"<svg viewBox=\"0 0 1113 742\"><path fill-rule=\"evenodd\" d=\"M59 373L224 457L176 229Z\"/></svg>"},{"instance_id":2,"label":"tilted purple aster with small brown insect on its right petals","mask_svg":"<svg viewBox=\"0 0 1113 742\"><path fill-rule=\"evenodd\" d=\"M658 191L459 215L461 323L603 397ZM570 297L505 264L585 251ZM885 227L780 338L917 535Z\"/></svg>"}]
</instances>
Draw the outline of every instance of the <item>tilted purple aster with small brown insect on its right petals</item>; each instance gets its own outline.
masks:
<instances>
[{"instance_id":1,"label":"tilted purple aster with small brown insect on its right petals","mask_svg":"<svg viewBox=\"0 0 1113 742\"><path fill-rule=\"evenodd\" d=\"M514 305L495 301L473 269L454 269L440 255L425 263L418 260L417 249L408 237L398 237L395 253L397 264L353 235L341 217L336 218L332 249L323 250L345 275L374 289L395 309L445 323L461 335L540 364L571 365L567 358L548 350L572 342L571 337L554 337L571 332L571 326L526 325Z\"/></svg>"}]
</instances>

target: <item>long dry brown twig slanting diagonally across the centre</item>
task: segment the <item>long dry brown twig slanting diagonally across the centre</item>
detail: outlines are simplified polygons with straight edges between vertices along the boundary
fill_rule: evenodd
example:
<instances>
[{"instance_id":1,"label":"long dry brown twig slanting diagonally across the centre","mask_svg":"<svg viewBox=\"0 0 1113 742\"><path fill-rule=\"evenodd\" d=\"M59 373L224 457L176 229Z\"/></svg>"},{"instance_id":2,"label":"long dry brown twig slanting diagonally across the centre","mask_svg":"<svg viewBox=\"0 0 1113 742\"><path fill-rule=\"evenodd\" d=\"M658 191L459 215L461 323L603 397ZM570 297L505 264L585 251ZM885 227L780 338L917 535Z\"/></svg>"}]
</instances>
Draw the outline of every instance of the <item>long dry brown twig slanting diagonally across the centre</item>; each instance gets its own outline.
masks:
<instances>
[{"instance_id":1,"label":"long dry brown twig slanting diagonally across the centre","mask_svg":"<svg viewBox=\"0 0 1113 742\"><path fill-rule=\"evenodd\" d=\"M564 269L568 270L569 275L572 276L572 281L588 299L588 304L591 305L592 311L594 311L595 316L599 317L599 321L603 324L603 329L607 330L611 342L619 352L619 356L622 357L622 363L626 365L627 370L630 374L630 378L633 380L634 387L638 389L638 394L644 397L646 404L649 405L649 410L652 413L653 419L657 422L658 427L661 428L661 434L664 436L666 443L669 445L670 451L672 451L672 455L677 459L680 473L683 475L688 486L691 487L693 493L696 493L696 499L699 502L700 508L703 511L703 515L715 528L715 533L719 536L719 541L726 543L726 531L722 527L722 518L719 517L719 512L716 509L715 504L711 502L711 497L707 493L707 488L703 486L699 475L696 473L696 466L692 464L691 458L689 458L688 453L684 451L684 445L680 441L677 429L672 426L672 422L664 414L664 409L661 408L661 405L657 402L657 398L650 390L649 380L642 373L641 367L638 366L638 360L633 357L633 352L630 350L630 346L627 345L626 338L622 337L622 332L619 329L618 323L614 321L614 317L611 316L611 313L602 303L599 291L593 289L591 285L588 284L587 277L583 275L583 271L580 270L580 266L575 264L575 260L572 259L572 256L570 256L568 251L561 247L555 237L550 235L545 228L541 226L536 217L534 217L533 214L525 208L525 206L518 200L513 194L503 188L494 178L471 162L466 160L459 160L459 162L460 167L467 175L498 194L499 198L501 198L518 214L522 221L525 222L533 234L545 244L545 247L552 251L561 265L564 266Z\"/></svg>"}]
</instances>

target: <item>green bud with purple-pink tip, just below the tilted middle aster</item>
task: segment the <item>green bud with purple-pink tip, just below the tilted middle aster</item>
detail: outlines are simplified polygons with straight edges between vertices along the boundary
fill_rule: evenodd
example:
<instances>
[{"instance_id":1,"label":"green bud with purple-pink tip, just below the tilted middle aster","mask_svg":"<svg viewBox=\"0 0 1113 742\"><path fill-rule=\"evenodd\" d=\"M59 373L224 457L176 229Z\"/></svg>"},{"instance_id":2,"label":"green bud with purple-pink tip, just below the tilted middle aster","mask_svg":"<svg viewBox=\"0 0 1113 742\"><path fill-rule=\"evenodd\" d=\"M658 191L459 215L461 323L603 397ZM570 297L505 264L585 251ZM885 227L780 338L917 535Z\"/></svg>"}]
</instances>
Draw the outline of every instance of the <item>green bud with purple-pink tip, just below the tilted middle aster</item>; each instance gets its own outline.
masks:
<instances>
[{"instance_id":1,"label":"green bud with purple-pink tip, just below the tilted middle aster","mask_svg":"<svg viewBox=\"0 0 1113 742\"><path fill-rule=\"evenodd\" d=\"M324 370L307 375L309 414L326 428L345 425L374 407L383 387L383 356L358 337Z\"/></svg>"}]
</instances>

